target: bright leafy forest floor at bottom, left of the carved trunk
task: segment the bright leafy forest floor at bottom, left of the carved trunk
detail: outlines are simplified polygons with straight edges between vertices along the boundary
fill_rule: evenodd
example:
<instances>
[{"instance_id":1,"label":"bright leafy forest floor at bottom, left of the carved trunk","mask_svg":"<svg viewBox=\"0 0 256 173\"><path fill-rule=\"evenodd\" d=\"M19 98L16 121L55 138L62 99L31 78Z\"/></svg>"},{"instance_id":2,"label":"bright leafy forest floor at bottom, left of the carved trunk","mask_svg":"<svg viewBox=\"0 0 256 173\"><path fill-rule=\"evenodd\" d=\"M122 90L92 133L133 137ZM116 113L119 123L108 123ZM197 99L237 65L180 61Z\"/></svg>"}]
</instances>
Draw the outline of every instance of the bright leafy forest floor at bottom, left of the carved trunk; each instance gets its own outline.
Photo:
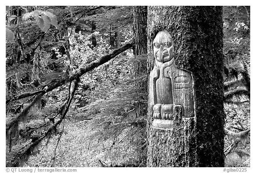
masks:
<instances>
[{"instance_id":1,"label":"bright leafy forest floor at bottom, left of the carved trunk","mask_svg":"<svg viewBox=\"0 0 256 173\"><path fill-rule=\"evenodd\" d=\"M117 142L113 146L113 141L108 139L102 142L95 138L95 131L92 131L87 124L87 120L65 120L64 131L57 149L56 144L60 135L42 142L23 166L52 166L55 149L54 167L99 167L99 159L107 165L124 163L129 165L136 162L133 147ZM62 126L63 123L59 129L62 129Z\"/></svg>"}]
</instances>

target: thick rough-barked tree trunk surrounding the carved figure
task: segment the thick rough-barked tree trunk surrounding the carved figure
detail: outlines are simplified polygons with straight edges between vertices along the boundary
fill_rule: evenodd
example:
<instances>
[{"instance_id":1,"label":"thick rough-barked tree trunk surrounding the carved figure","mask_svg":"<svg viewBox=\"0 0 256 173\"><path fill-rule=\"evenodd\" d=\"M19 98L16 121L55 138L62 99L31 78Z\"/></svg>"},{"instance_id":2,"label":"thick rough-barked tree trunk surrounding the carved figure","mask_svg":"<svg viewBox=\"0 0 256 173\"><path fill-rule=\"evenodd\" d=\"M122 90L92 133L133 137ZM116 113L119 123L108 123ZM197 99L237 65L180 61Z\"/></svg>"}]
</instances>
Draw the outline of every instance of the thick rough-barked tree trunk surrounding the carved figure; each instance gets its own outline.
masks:
<instances>
[{"instance_id":1,"label":"thick rough-barked tree trunk surrounding the carved figure","mask_svg":"<svg viewBox=\"0 0 256 173\"><path fill-rule=\"evenodd\" d=\"M193 112L191 115L185 112L184 115L186 110L173 103L173 117L158 119L158 122L165 121L169 124L155 123L155 126L154 123L152 125L154 103L149 98L148 122L151 126L148 131L148 166L222 167L222 7L148 7L149 72L156 65L153 40L158 31L162 30L172 36L172 57L175 61L173 68L181 73L184 71L192 79L190 89ZM157 86L150 85L155 83L149 82L149 96L154 97L154 87ZM185 104L182 105L184 107Z\"/></svg>"}]
</instances>

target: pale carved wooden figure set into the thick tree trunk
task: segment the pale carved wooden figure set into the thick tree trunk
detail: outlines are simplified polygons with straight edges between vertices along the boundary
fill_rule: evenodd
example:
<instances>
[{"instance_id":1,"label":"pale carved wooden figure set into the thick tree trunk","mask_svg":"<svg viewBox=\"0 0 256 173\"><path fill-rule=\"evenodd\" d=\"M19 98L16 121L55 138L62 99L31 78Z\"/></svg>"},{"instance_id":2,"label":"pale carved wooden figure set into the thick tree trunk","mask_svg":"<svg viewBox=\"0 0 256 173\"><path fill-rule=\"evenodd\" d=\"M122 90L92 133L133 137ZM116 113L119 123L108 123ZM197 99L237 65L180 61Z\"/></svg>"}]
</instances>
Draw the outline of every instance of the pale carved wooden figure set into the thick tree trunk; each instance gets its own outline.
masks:
<instances>
[{"instance_id":1,"label":"pale carved wooden figure set into the thick tree trunk","mask_svg":"<svg viewBox=\"0 0 256 173\"><path fill-rule=\"evenodd\" d=\"M154 69L150 73L149 104L155 119L173 119L173 105L180 105L185 117L194 116L192 76L178 69L173 58L172 37L159 31L153 41Z\"/></svg>"}]
</instances>

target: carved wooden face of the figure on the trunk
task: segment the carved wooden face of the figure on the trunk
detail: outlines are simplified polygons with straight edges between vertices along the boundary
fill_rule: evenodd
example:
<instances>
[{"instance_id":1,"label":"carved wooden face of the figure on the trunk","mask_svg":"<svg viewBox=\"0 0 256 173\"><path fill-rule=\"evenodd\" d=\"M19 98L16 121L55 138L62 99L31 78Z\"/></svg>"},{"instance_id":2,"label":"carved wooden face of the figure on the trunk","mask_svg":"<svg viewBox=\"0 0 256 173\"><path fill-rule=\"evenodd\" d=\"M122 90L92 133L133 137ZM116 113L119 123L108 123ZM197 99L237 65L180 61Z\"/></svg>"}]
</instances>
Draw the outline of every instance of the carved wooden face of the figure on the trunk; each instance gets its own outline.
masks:
<instances>
[{"instance_id":1,"label":"carved wooden face of the figure on the trunk","mask_svg":"<svg viewBox=\"0 0 256 173\"><path fill-rule=\"evenodd\" d=\"M172 59L172 36L167 31L159 31L153 41L154 57L159 62L168 62Z\"/></svg>"}]
</instances>

